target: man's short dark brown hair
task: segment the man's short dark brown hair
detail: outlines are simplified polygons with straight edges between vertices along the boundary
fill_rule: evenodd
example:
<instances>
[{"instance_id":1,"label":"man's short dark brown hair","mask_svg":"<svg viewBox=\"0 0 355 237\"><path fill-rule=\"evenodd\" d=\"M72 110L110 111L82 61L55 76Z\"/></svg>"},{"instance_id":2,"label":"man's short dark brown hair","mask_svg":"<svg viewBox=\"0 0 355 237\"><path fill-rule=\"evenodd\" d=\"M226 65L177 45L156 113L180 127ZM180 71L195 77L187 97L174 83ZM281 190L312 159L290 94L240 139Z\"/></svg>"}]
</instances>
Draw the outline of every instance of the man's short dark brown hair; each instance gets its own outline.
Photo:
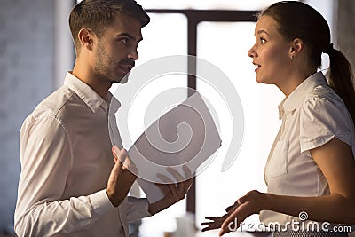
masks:
<instances>
[{"instance_id":1,"label":"man's short dark brown hair","mask_svg":"<svg viewBox=\"0 0 355 237\"><path fill-rule=\"evenodd\" d=\"M90 29L96 36L103 35L107 26L114 23L115 13L122 12L137 19L145 27L150 19L142 6L135 0L83 0L70 13L69 27L76 51L80 51L78 39L82 28Z\"/></svg>"}]
</instances>

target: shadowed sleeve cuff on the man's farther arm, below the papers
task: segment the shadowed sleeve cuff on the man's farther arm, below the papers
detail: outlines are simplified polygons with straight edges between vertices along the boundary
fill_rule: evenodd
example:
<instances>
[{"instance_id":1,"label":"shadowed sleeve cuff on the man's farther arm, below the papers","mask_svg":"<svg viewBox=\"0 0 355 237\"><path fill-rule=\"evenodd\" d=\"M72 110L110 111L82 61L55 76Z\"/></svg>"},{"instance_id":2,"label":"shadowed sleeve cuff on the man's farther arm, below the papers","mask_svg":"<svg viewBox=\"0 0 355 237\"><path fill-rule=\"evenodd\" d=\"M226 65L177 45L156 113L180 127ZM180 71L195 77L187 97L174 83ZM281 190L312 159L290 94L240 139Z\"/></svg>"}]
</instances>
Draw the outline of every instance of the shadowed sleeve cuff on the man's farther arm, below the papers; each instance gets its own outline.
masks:
<instances>
[{"instance_id":1,"label":"shadowed sleeve cuff on the man's farther arm, below the papers","mask_svg":"<svg viewBox=\"0 0 355 237\"><path fill-rule=\"evenodd\" d=\"M149 202L146 198L128 197L127 221L135 221L143 217L152 216L149 211Z\"/></svg>"}]
</instances>

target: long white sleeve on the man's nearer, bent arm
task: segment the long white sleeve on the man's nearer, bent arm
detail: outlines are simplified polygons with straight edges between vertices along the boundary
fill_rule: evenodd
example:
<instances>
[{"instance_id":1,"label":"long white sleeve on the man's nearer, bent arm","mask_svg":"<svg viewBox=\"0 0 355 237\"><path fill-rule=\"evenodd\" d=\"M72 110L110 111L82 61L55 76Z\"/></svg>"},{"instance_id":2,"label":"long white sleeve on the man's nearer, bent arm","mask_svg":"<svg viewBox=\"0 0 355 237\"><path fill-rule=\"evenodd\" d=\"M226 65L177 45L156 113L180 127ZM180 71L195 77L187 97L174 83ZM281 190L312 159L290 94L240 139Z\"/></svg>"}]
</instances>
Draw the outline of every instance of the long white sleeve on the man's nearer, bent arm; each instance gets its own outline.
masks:
<instances>
[{"instance_id":1,"label":"long white sleeve on the man's nearer, bent arm","mask_svg":"<svg viewBox=\"0 0 355 237\"><path fill-rule=\"evenodd\" d=\"M20 130L20 159L15 210L18 236L52 236L83 230L114 209L106 190L62 200L73 150L58 118L28 117Z\"/></svg>"}]
</instances>

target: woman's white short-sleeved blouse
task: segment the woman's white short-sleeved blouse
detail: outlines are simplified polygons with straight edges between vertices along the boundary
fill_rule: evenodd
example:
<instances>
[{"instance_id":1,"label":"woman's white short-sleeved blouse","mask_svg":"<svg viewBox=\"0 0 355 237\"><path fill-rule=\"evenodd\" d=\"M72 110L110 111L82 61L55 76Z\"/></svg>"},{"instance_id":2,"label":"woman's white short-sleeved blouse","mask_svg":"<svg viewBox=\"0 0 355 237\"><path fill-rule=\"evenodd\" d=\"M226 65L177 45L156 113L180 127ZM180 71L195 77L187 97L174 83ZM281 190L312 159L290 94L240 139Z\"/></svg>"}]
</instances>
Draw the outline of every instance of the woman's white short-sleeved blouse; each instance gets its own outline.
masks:
<instances>
[{"instance_id":1,"label":"woman's white short-sleeved blouse","mask_svg":"<svg viewBox=\"0 0 355 237\"><path fill-rule=\"evenodd\" d=\"M327 179L309 150L338 138L352 147L355 132L343 100L319 72L301 83L279 106L282 125L264 169L268 193L292 196L322 196L329 193ZM341 159L341 157L339 157ZM326 208L326 207L325 207ZM284 225L296 217L264 210L264 224Z\"/></svg>"}]
</instances>

